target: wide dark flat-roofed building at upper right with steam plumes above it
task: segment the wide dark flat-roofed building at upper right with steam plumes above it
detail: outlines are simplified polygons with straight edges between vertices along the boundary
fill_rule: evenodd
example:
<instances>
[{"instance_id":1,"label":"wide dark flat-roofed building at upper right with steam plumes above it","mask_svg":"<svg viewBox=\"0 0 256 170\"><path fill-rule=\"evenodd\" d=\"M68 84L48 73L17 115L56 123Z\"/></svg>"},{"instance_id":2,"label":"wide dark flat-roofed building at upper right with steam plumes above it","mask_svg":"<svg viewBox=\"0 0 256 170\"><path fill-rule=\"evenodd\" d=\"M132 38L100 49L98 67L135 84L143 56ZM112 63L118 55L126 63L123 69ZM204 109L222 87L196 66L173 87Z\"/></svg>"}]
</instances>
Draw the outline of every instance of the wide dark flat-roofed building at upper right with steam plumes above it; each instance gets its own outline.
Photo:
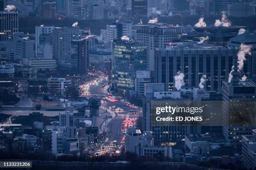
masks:
<instances>
[{"instance_id":1,"label":"wide dark flat-roofed building at upper right with steam plumes above it","mask_svg":"<svg viewBox=\"0 0 256 170\"><path fill-rule=\"evenodd\" d=\"M208 43L220 46L226 46L230 38L236 37L238 31L247 27L241 26L229 26L229 27L194 27L196 33L194 35L195 40L200 40L201 37L208 37Z\"/></svg>"}]
</instances>

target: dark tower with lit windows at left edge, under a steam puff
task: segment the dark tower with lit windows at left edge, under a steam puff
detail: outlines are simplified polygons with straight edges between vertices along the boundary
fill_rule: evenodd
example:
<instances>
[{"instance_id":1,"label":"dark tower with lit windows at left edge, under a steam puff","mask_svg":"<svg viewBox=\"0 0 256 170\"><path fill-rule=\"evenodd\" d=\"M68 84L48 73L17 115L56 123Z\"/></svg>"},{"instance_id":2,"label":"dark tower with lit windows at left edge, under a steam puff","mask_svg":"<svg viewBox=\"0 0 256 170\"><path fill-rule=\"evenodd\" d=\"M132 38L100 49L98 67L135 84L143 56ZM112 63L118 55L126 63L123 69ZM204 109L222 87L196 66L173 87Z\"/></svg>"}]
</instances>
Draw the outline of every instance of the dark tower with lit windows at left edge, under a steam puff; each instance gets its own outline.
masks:
<instances>
[{"instance_id":1,"label":"dark tower with lit windows at left edge, under a steam puff","mask_svg":"<svg viewBox=\"0 0 256 170\"><path fill-rule=\"evenodd\" d=\"M13 33L19 32L18 12L0 12L0 41L13 41Z\"/></svg>"}]
</instances>

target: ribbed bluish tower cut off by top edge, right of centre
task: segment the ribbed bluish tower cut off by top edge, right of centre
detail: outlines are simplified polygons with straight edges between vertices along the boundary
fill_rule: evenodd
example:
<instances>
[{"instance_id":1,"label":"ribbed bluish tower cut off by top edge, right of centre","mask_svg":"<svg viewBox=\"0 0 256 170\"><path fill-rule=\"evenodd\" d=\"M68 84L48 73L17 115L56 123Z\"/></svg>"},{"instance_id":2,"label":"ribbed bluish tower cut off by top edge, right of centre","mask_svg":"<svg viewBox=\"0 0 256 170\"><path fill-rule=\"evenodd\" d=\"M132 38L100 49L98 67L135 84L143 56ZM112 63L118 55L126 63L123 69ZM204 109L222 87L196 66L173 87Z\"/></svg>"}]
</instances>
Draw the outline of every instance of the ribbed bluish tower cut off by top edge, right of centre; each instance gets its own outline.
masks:
<instances>
[{"instance_id":1,"label":"ribbed bluish tower cut off by top edge, right of centre","mask_svg":"<svg viewBox=\"0 0 256 170\"><path fill-rule=\"evenodd\" d=\"M169 9L174 13L189 13L189 0L169 0Z\"/></svg>"}]
</instances>

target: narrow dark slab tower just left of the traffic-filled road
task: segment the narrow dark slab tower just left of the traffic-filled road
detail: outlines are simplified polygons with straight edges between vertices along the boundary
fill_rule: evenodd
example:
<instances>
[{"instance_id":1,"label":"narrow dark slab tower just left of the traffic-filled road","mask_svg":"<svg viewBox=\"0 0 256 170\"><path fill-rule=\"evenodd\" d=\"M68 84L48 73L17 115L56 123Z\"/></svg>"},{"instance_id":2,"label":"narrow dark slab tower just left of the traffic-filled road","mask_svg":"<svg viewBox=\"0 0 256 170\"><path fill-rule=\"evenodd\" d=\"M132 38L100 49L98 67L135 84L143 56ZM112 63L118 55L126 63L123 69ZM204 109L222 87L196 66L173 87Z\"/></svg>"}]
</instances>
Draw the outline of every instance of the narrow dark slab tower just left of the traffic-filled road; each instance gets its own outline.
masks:
<instances>
[{"instance_id":1,"label":"narrow dark slab tower just left of the traffic-filled road","mask_svg":"<svg viewBox=\"0 0 256 170\"><path fill-rule=\"evenodd\" d=\"M87 42L88 39L72 40L71 42L71 58L77 60L77 71L81 75L87 73Z\"/></svg>"}]
</instances>

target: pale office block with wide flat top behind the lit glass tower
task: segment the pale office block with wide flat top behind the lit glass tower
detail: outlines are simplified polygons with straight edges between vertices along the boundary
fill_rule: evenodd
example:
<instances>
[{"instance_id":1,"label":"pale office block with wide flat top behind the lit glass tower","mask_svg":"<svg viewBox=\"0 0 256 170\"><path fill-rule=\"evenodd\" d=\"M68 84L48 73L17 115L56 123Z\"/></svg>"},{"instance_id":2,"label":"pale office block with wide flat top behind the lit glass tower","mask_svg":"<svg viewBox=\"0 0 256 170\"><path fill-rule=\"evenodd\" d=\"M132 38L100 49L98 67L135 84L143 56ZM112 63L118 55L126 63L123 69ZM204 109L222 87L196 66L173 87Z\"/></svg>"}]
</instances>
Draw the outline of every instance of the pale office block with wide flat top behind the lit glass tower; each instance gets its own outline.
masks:
<instances>
[{"instance_id":1,"label":"pale office block with wide flat top behind the lit glass tower","mask_svg":"<svg viewBox=\"0 0 256 170\"><path fill-rule=\"evenodd\" d=\"M148 45L147 69L154 71L155 48L166 47L170 42L181 40L182 27L163 23L136 26L135 40Z\"/></svg>"}]
</instances>

